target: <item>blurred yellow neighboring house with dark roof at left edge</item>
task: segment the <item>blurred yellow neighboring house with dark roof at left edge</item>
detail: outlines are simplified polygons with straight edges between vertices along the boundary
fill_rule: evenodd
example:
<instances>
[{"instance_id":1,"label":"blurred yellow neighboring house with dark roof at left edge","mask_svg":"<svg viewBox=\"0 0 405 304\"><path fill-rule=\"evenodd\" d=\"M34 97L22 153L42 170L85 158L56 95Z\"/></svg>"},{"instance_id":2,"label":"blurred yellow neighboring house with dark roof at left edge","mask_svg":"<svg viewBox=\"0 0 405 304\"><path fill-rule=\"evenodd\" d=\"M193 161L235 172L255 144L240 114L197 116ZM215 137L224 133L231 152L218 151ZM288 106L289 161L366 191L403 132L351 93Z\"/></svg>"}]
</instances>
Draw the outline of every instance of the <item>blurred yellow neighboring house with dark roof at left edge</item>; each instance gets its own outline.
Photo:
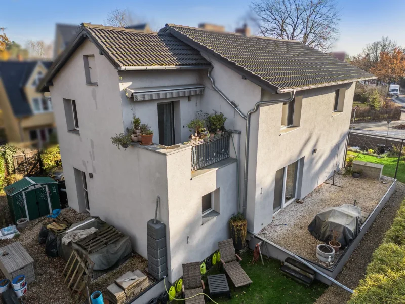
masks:
<instances>
[{"instance_id":1,"label":"blurred yellow neighboring house with dark roof at left edge","mask_svg":"<svg viewBox=\"0 0 405 304\"><path fill-rule=\"evenodd\" d=\"M52 102L37 92L36 86L51 64L38 60L0 61L0 108L7 141L49 141L55 129Z\"/></svg>"}]
</instances>

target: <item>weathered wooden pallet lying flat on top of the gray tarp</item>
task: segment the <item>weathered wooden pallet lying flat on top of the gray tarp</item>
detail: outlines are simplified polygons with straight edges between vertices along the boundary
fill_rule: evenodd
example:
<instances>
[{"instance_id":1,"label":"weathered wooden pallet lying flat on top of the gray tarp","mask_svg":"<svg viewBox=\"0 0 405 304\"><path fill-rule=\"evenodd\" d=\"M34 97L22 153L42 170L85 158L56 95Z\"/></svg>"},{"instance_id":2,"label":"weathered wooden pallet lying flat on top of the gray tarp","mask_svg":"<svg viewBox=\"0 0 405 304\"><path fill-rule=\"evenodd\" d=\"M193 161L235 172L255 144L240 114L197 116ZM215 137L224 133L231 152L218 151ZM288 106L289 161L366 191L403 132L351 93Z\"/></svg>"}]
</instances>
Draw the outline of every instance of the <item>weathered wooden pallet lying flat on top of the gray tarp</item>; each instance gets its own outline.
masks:
<instances>
[{"instance_id":1,"label":"weathered wooden pallet lying flat on top of the gray tarp","mask_svg":"<svg viewBox=\"0 0 405 304\"><path fill-rule=\"evenodd\" d=\"M93 253L119 240L123 236L124 234L116 230L114 226L108 226L78 241L76 244L82 247L87 253Z\"/></svg>"}]
</instances>

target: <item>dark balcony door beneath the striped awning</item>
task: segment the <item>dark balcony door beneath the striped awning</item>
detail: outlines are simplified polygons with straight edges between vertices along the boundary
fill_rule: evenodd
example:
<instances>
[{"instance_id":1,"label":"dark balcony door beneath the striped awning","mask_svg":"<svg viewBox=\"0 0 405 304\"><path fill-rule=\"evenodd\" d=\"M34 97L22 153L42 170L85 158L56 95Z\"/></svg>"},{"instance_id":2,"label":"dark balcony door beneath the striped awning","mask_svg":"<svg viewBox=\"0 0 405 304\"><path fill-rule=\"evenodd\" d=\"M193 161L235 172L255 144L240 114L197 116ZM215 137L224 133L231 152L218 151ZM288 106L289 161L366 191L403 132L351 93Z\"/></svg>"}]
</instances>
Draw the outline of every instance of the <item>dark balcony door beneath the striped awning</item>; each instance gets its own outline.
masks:
<instances>
[{"instance_id":1,"label":"dark balcony door beneath the striped awning","mask_svg":"<svg viewBox=\"0 0 405 304\"><path fill-rule=\"evenodd\" d=\"M159 143L174 145L174 109L173 101L157 104L157 122L159 127Z\"/></svg>"}]
</instances>

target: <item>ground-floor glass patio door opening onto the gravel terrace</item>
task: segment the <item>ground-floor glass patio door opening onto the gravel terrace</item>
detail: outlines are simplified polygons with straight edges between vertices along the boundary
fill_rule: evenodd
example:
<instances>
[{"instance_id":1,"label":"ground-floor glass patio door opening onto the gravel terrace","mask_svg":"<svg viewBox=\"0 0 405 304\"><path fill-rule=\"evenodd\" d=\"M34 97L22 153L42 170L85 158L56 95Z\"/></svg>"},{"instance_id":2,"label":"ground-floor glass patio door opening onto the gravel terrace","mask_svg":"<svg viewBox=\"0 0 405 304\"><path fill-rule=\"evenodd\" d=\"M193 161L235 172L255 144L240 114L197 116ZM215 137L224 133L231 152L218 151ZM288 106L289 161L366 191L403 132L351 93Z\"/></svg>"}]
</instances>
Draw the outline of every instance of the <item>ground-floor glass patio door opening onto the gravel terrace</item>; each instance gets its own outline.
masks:
<instances>
[{"instance_id":1,"label":"ground-floor glass patio door opening onto the gravel terrace","mask_svg":"<svg viewBox=\"0 0 405 304\"><path fill-rule=\"evenodd\" d=\"M297 198L299 165L300 160L276 171L273 213L286 207Z\"/></svg>"}]
</instances>

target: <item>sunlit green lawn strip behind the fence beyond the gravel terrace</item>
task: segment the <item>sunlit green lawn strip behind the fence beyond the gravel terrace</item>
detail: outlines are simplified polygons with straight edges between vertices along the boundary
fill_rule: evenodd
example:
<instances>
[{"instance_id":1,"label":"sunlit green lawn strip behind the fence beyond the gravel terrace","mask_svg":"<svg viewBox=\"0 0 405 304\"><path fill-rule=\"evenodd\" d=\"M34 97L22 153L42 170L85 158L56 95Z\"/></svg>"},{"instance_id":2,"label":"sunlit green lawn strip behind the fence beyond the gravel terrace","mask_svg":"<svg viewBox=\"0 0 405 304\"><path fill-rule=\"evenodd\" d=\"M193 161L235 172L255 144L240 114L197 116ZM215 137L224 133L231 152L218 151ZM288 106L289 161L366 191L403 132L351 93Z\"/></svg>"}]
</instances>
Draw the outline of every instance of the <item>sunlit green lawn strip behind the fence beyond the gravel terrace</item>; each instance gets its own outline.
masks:
<instances>
[{"instance_id":1,"label":"sunlit green lawn strip behind the fence beyond the gravel terrace","mask_svg":"<svg viewBox=\"0 0 405 304\"><path fill-rule=\"evenodd\" d=\"M394 177L395 176L395 168L396 163L398 161L397 157L386 157L386 158L378 158L372 155L361 154L357 152L347 151L347 156L354 156L356 160L362 162L369 162L374 164L381 164L384 165L383 168L383 175ZM396 174L396 178L400 181L405 183L405 162L403 161L403 157L399 161L398 172Z\"/></svg>"}]
</instances>

